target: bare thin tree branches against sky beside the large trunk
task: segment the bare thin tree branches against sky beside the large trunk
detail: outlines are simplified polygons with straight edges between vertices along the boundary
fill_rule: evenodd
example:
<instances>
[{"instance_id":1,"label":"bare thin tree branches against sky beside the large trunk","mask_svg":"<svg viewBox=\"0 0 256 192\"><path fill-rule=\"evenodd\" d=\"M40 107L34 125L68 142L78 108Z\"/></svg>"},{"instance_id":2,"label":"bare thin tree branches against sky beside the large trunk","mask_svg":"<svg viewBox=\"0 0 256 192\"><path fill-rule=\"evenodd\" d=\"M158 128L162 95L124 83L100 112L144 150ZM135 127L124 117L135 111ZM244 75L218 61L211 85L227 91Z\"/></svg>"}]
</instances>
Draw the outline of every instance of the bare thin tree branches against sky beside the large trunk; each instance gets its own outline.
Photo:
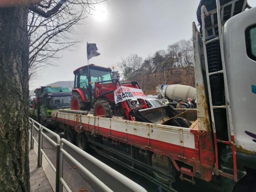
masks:
<instances>
[{"instance_id":1,"label":"bare thin tree branches against sky beside the large trunk","mask_svg":"<svg viewBox=\"0 0 256 192\"><path fill-rule=\"evenodd\" d=\"M48 66L56 66L62 50L72 50L81 42L73 38L74 27L81 25L87 14L93 14L95 5L104 1L43 0L29 7L30 76L36 76L35 73Z\"/></svg>"}]
</instances>

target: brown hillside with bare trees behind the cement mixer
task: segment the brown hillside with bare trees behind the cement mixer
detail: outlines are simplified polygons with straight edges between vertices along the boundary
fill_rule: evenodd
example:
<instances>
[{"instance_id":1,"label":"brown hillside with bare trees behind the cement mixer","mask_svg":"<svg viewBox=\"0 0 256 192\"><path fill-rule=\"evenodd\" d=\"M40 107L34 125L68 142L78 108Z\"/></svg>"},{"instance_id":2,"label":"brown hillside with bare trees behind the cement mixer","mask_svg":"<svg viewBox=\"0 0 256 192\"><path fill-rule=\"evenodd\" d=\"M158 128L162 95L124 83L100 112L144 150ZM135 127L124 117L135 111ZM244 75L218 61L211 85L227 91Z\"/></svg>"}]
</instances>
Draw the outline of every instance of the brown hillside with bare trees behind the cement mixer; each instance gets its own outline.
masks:
<instances>
[{"instance_id":1,"label":"brown hillside with bare trees behind the cement mixer","mask_svg":"<svg viewBox=\"0 0 256 192\"><path fill-rule=\"evenodd\" d=\"M118 64L123 81L138 81L145 94L155 94L158 84L185 84L195 87L194 51L190 40L170 44L143 60L137 54Z\"/></svg>"}]
</instances>

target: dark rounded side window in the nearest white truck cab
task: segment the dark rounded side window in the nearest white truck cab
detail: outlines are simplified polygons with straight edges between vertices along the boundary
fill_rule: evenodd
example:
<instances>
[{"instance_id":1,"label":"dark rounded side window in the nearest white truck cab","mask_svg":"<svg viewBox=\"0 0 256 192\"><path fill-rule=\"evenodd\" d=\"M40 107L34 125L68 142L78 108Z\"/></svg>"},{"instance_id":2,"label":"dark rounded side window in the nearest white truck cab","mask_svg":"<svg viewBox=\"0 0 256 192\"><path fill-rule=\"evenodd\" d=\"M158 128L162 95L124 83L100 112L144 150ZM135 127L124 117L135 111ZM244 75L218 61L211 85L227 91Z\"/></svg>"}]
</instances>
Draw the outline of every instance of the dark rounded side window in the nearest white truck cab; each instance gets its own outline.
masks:
<instances>
[{"instance_id":1,"label":"dark rounded side window in the nearest white truck cab","mask_svg":"<svg viewBox=\"0 0 256 192\"><path fill-rule=\"evenodd\" d=\"M245 44L248 57L256 61L256 24L245 30Z\"/></svg>"}]
</instances>

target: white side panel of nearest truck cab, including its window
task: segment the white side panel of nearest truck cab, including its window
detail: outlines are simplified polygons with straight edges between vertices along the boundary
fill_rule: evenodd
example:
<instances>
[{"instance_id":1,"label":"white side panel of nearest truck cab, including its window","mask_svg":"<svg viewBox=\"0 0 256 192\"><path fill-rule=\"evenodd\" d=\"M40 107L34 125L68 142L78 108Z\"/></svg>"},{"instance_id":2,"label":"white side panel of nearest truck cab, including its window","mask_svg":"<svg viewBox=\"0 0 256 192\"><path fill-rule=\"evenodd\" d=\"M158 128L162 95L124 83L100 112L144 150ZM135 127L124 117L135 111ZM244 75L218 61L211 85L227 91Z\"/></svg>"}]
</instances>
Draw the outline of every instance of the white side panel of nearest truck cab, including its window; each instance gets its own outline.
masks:
<instances>
[{"instance_id":1,"label":"white side panel of nearest truck cab, including its window","mask_svg":"<svg viewBox=\"0 0 256 192\"><path fill-rule=\"evenodd\" d=\"M238 150L256 152L256 7L224 25L227 82Z\"/></svg>"}]
</instances>

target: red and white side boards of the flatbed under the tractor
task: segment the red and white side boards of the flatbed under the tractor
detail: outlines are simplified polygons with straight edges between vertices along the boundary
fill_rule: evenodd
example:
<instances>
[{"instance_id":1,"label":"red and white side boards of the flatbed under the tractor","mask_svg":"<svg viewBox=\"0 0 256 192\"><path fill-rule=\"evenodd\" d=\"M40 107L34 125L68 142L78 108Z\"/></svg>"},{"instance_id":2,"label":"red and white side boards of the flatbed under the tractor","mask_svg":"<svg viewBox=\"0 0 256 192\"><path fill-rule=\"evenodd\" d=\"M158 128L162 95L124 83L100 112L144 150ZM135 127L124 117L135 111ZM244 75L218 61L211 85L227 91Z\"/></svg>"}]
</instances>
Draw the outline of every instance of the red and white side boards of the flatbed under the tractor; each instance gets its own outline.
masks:
<instances>
[{"instance_id":1,"label":"red and white side boards of the flatbed under the tractor","mask_svg":"<svg viewBox=\"0 0 256 192\"><path fill-rule=\"evenodd\" d=\"M196 110L192 113L196 113ZM195 118L191 121L192 125L189 128L128 121L119 116L105 118L93 116L91 113L81 115L60 111L52 112L52 120L70 125L77 132L82 126L84 131L92 134L99 134L105 138L128 143L154 153L166 156L171 153L199 159L199 154L195 153L198 151L196 147L198 137L192 131L198 129L198 122Z\"/></svg>"}]
</instances>

